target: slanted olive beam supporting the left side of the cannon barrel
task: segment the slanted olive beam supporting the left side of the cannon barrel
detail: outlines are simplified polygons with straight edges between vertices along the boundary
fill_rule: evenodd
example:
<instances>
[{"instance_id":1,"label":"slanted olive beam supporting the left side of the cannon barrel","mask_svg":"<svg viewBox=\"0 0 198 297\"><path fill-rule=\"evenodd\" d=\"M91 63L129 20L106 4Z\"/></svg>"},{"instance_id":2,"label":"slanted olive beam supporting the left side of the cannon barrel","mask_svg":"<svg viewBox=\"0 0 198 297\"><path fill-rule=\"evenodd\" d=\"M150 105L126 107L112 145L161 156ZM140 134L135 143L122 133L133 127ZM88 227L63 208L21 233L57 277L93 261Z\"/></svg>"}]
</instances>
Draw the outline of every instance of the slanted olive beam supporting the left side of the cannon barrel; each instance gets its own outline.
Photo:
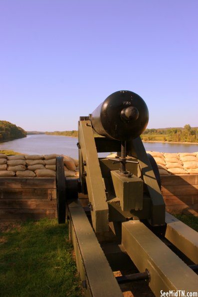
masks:
<instances>
[{"instance_id":1,"label":"slanted olive beam supporting the left side of the cannon barrel","mask_svg":"<svg viewBox=\"0 0 198 297\"><path fill-rule=\"evenodd\" d=\"M79 122L79 142L82 158L86 163L84 170L86 171L89 201L93 208L91 211L93 228L96 233L105 232L109 230L109 209L106 202L105 186L98 161L93 130L89 120Z\"/></svg>"}]
</instances>

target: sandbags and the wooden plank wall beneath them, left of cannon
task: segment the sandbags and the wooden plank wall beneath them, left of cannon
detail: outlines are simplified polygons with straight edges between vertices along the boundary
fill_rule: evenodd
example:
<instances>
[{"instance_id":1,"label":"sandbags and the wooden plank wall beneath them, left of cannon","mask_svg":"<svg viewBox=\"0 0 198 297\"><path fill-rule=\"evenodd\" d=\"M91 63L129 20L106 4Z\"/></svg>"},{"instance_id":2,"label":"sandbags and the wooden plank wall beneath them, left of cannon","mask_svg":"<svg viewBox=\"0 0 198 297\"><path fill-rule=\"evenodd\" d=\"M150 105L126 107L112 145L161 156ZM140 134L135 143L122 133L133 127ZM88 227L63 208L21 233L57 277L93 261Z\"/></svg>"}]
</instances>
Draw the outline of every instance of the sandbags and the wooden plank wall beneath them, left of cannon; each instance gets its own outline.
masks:
<instances>
[{"instance_id":1,"label":"sandbags and the wooden plank wall beneath them, left of cannon","mask_svg":"<svg viewBox=\"0 0 198 297\"><path fill-rule=\"evenodd\" d=\"M56 156L0 154L0 221L57 217ZM78 160L63 157L65 177L78 177Z\"/></svg>"}]
</instances>

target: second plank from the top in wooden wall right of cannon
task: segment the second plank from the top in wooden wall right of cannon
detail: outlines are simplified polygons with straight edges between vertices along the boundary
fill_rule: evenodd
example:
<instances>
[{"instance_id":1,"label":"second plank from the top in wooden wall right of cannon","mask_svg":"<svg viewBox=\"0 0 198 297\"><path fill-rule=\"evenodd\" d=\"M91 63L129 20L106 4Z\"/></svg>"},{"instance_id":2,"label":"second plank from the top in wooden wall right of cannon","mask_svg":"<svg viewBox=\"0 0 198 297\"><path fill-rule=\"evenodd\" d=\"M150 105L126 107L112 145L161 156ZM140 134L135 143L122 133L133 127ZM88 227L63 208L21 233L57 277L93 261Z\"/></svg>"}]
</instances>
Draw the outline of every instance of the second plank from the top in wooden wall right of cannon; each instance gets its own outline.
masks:
<instances>
[{"instance_id":1,"label":"second plank from the top in wooden wall right of cannon","mask_svg":"<svg viewBox=\"0 0 198 297\"><path fill-rule=\"evenodd\" d=\"M198 195L198 185L162 186L163 196Z\"/></svg>"}]
</instances>

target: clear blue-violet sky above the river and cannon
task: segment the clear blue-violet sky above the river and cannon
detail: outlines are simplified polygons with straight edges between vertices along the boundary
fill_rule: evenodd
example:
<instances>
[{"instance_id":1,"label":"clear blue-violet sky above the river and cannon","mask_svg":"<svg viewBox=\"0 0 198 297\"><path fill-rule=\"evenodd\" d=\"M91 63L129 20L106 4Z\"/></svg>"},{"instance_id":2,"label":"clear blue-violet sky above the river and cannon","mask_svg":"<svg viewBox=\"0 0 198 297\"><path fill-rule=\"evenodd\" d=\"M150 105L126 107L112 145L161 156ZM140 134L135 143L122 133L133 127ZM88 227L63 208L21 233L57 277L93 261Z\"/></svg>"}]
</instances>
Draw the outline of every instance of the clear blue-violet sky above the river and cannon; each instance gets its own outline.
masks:
<instances>
[{"instance_id":1,"label":"clear blue-violet sky above the river and cannon","mask_svg":"<svg viewBox=\"0 0 198 297\"><path fill-rule=\"evenodd\" d=\"M0 120L76 130L122 89L198 126L198 0L0 0Z\"/></svg>"}]
</instances>

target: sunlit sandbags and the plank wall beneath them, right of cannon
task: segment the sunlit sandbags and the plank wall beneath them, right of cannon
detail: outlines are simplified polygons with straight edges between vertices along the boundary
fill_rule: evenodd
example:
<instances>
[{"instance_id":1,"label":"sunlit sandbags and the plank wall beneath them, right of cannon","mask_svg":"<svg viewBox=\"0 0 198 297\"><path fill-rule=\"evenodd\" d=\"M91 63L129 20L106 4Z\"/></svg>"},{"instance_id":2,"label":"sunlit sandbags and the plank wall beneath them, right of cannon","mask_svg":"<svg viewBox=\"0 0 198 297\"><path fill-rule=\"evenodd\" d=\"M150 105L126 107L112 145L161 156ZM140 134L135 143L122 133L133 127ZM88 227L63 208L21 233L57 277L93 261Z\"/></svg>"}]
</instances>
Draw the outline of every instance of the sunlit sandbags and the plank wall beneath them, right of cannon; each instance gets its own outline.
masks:
<instances>
[{"instance_id":1,"label":"sunlit sandbags and the plank wall beneath them, right of cannon","mask_svg":"<svg viewBox=\"0 0 198 297\"><path fill-rule=\"evenodd\" d=\"M159 168L166 210L198 216L198 152L150 152Z\"/></svg>"}]
</instances>

